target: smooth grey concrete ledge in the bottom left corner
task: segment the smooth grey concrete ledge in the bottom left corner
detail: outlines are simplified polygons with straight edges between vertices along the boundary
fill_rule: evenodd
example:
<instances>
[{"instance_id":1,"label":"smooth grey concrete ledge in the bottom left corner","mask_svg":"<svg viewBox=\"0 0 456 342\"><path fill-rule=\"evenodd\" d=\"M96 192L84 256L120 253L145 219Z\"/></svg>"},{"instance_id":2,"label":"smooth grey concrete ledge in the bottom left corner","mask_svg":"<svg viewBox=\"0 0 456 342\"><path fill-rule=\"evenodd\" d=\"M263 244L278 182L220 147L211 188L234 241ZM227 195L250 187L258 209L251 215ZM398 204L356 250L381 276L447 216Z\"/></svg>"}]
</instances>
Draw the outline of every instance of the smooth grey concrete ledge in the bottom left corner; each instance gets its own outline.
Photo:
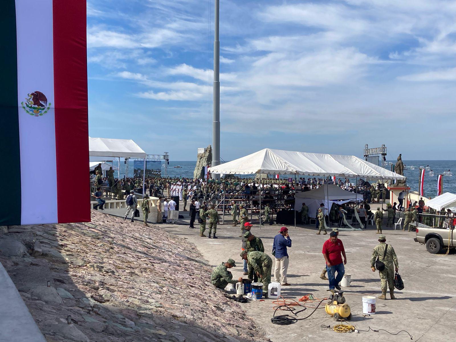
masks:
<instances>
[{"instance_id":1,"label":"smooth grey concrete ledge in the bottom left corner","mask_svg":"<svg viewBox=\"0 0 456 342\"><path fill-rule=\"evenodd\" d=\"M1 263L0 286L0 342L46 342Z\"/></svg>"}]
</instances>

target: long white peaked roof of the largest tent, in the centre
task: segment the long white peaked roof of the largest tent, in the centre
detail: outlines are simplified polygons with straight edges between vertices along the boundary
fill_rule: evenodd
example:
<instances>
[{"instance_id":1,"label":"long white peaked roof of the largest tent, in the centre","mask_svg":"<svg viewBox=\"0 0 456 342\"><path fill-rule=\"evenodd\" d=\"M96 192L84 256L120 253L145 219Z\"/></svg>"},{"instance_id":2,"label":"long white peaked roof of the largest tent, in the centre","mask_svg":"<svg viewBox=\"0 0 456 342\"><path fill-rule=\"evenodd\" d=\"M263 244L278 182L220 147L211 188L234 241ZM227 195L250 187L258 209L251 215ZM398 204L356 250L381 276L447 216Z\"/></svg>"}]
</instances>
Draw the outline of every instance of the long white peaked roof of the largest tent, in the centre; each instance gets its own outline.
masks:
<instances>
[{"instance_id":1,"label":"long white peaked roof of the largest tent, in the centre","mask_svg":"<svg viewBox=\"0 0 456 342\"><path fill-rule=\"evenodd\" d=\"M405 177L381 166L363 161L354 155L330 155L285 150L264 149L209 168L217 174L296 174L305 176L336 176L368 180L400 179Z\"/></svg>"}]
</instances>

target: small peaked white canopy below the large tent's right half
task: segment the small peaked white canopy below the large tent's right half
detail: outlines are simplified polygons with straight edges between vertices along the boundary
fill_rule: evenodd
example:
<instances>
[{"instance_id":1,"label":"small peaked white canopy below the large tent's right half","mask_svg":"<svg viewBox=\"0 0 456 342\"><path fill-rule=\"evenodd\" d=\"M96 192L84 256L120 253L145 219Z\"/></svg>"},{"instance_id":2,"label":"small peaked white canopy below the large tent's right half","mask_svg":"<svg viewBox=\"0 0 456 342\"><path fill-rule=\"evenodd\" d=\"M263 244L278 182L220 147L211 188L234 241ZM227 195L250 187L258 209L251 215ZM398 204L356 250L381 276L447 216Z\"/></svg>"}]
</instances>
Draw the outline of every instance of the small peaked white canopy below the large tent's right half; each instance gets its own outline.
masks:
<instances>
[{"instance_id":1,"label":"small peaked white canopy below the large tent's right half","mask_svg":"<svg viewBox=\"0 0 456 342\"><path fill-rule=\"evenodd\" d=\"M324 185L318 189L296 193L295 210L300 211L302 203L305 202L306 206L309 207L309 217L315 218L320 203L323 203L326 209L330 210L332 203L341 205L347 202L359 202L362 200L363 195L357 195L354 192L343 190L334 184ZM325 212L325 214L328 214L328 212Z\"/></svg>"}]
</instances>

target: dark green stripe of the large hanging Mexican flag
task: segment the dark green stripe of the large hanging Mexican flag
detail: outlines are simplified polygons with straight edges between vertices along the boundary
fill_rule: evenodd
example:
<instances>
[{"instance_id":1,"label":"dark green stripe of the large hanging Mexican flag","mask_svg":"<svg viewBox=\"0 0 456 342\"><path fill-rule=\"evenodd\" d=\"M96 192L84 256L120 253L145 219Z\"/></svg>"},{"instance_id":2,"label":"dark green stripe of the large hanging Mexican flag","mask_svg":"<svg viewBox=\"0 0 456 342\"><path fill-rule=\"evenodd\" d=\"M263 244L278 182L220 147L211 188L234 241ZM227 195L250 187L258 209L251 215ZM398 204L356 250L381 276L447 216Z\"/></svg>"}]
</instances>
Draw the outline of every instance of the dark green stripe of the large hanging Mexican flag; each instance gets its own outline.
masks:
<instances>
[{"instance_id":1,"label":"dark green stripe of the large hanging Mexican flag","mask_svg":"<svg viewBox=\"0 0 456 342\"><path fill-rule=\"evenodd\" d=\"M21 157L17 103L17 45L15 0L2 1L0 20L0 226L21 224Z\"/></svg>"}]
</instances>

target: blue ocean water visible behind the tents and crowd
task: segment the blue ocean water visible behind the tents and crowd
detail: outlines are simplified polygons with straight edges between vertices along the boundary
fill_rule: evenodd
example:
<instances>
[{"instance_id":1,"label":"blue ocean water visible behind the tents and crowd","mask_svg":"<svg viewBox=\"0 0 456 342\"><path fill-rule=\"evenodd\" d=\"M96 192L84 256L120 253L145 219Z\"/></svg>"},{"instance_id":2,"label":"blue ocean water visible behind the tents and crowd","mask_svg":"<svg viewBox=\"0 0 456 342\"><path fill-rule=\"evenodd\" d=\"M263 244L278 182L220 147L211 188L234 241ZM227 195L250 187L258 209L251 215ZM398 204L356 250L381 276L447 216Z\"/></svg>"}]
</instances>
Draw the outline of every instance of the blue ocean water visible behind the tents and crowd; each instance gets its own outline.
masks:
<instances>
[{"instance_id":1,"label":"blue ocean water visible behind the tents and crowd","mask_svg":"<svg viewBox=\"0 0 456 342\"><path fill-rule=\"evenodd\" d=\"M390 161L396 164L396 161ZM419 187L419 174L418 167L430 166L430 169L434 171L435 176L429 176L429 171L425 173L425 197L435 197L437 195L437 175L443 174L446 170L455 172L455 176L444 176L443 177L443 191L456 193L456 161L403 161L405 165L404 176L407 177L407 185L412 191L418 191ZM162 165L164 161L162 161ZM117 166L117 162L114 161L114 165ZM174 168L174 166L182 166L181 168ZM168 176L177 178L192 178L193 171L195 170L196 161L170 161L168 165ZM410 166L415 166L415 170L411 170ZM390 170L390 166L384 166L387 170ZM162 175L164 167L161 167ZM124 161L120 160L120 176L123 177L125 174ZM129 176L133 176L133 161L129 164ZM244 176L243 177L248 177ZM281 178L287 178L289 176L281 176ZM307 178L307 177L306 177ZM352 182L355 180L352 179Z\"/></svg>"}]
</instances>

